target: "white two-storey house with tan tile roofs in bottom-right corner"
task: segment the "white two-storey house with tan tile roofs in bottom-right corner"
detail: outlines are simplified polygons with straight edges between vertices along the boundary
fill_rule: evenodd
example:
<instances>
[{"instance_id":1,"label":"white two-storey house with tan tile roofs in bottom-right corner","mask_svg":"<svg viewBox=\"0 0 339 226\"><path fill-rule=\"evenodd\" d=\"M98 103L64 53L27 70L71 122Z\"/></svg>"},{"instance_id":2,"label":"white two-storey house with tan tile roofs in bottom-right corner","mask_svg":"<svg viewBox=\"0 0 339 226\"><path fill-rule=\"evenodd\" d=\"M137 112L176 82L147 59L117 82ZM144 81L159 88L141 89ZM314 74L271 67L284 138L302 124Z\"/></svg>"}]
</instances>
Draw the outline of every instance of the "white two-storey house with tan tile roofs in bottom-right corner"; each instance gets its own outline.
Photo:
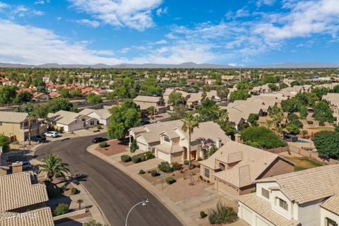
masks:
<instances>
[{"instance_id":1,"label":"white two-storey house with tan tile roofs in bottom-right corner","mask_svg":"<svg viewBox=\"0 0 339 226\"><path fill-rule=\"evenodd\" d=\"M339 224L339 165L256 180L256 193L238 197L239 218L249 225Z\"/></svg>"}]
</instances>

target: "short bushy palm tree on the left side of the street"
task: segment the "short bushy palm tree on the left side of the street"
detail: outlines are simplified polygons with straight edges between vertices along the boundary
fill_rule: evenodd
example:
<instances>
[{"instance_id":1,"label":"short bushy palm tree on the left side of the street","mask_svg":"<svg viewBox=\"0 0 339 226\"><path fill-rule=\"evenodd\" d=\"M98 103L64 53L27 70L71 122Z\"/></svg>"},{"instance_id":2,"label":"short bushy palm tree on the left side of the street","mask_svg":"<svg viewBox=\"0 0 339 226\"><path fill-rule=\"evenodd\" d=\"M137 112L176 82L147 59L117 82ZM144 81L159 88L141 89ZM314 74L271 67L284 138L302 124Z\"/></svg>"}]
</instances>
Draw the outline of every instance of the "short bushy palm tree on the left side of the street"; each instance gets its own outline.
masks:
<instances>
[{"instance_id":1,"label":"short bushy palm tree on the left side of the street","mask_svg":"<svg viewBox=\"0 0 339 226\"><path fill-rule=\"evenodd\" d=\"M49 154L47 158L41 160L43 164L39 165L39 173L45 172L46 179L52 182L54 177L66 177L69 172L68 164L62 162L61 158L55 154Z\"/></svg>"}]
</instances>

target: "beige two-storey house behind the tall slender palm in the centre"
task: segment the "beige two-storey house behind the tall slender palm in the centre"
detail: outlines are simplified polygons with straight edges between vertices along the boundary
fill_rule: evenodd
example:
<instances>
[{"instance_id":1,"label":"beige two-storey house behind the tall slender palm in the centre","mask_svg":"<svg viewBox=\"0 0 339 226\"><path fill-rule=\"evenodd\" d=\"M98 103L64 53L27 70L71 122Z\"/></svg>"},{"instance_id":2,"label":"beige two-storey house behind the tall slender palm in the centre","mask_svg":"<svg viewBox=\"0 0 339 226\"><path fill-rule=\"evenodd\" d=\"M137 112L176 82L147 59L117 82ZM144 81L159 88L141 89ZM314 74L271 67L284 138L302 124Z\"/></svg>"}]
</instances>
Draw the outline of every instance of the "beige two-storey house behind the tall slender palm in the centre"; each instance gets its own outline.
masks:
<instances>
[{"instance_id":1,"label":"beige two-storey house behind the tall slender palm in the centre","mask_svg":"<svg viewBox=\"0 0 339 226\"><path fill-rule=\"evenodd\" d=\"M129 136L131 140L136 139L143 151L152 150L156 157L169 163L182 162L189 158L189 133L182 131L182 125L182 120L148 124L130 129ZM206 150L212 145L220 148L229 140L213 121L200 123L191 134L191 160L206 157Z\"/></svg>"}]
</instances>

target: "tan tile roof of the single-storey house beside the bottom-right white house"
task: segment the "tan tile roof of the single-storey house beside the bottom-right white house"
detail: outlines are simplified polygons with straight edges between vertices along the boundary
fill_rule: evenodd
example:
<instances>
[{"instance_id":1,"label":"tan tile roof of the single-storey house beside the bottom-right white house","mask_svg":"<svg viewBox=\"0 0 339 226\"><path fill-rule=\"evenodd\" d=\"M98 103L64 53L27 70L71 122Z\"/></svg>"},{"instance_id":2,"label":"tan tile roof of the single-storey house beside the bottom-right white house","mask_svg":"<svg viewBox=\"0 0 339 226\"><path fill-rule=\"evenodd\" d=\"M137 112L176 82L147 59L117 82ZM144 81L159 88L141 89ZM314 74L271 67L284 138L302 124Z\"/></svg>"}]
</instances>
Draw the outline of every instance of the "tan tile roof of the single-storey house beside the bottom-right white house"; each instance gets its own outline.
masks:
<instances>
[{"instance_id":1,"label":"tan tile roof of the single-storey house beside the bottom-right white house","mask_svg":"<svg viewBox=\"0 0 339 226\"><path fill-rule=\"evenodd\" d=\"M231 169L216 172L214 176L234 186L242 187L253 184L277 158L281 157L266 150L227 141L212 156L200 163L211 169L218 169L217 161L226 164L239 161Z\"/></svg>"}]
</instances>

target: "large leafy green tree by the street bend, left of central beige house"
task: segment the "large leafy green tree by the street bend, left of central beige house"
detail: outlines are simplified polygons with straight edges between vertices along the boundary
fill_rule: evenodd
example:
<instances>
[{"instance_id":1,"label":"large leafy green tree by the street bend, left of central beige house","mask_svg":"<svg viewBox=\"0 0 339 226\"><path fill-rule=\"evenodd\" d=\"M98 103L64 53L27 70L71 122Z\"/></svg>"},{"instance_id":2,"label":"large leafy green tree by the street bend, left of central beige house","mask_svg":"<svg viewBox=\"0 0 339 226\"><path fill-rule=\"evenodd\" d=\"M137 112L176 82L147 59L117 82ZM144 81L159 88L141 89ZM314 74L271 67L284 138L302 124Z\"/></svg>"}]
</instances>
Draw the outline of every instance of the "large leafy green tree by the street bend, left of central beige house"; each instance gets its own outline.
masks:
<instances>
[{"instance_id":1,"label":"large leafy green tree by the street bend, left of central beige house","mask_svg":"<svg viewBox=\"0 0 339 226\"><path fill-rule=\"evenodd\" d=\"M132 100L126 100L122 105L109 109L112 114L111 123L108 126L110 138L123 139L132 127L141 124L141 110Z\"/></svg>"}]
</instances>

